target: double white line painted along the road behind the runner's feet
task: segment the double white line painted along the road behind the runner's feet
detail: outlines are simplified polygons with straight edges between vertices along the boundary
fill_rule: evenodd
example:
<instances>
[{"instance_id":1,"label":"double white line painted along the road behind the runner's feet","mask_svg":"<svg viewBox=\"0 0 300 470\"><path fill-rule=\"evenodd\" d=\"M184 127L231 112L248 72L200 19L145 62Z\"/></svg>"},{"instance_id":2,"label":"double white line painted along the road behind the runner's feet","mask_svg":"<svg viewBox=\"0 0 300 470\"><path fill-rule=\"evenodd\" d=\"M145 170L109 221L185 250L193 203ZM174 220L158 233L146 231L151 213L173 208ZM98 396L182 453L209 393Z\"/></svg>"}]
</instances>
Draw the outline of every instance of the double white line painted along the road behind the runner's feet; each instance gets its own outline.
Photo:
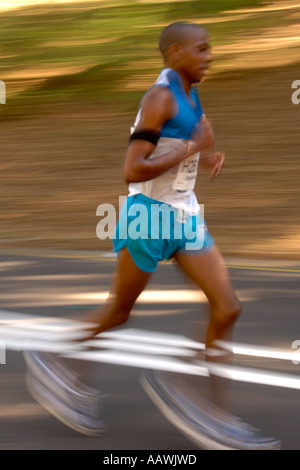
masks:
<instances>
[{"instance_id":1,"label":"double white line painted along the road behind the runner's feet","mask_svg":"<svg viewBox=\"0 0 300 470\"><path fill-rule=\"evenodd\" d=\"M179 356L192 358L205 349L203 343L182 335L120 329L102 333L91 341L76 342L74 339L83 333L82 326L81 322L72 322L62 318L32 317L0 311L0 341L3 341L8 349L43 350L57 352L64 357L78 360L168 370L206 377L213 373L230 380L300 390L300 378L293 374L218 365L201 362L197 358L194 361L190 359L189 362L180 360ZM294 351L235 343L222 343L222 346L237 355L246 354L253 357L283 360L297 358Z\"/></svg>"}]
</instances>

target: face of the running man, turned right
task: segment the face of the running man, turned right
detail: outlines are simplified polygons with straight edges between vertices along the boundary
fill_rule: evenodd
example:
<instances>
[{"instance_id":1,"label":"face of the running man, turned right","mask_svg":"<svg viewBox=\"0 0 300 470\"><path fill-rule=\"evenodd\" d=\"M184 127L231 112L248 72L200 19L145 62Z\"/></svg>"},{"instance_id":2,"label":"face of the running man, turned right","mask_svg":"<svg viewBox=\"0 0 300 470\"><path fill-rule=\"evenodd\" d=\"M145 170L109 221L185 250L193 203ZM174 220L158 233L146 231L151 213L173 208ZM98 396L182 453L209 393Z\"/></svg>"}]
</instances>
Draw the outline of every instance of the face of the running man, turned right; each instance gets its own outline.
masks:
<instances>
[{"instance_id":1,"label":"face of the running man, turned right","mask_svg":"<svg viewBox=\"0 0 300 470\"><path fill-rule=\"evenodd\" d=\"M207 32L191 31L180 48L180 69L192 83L201 82L212 60Z\"/></svg>"}]
</instances>

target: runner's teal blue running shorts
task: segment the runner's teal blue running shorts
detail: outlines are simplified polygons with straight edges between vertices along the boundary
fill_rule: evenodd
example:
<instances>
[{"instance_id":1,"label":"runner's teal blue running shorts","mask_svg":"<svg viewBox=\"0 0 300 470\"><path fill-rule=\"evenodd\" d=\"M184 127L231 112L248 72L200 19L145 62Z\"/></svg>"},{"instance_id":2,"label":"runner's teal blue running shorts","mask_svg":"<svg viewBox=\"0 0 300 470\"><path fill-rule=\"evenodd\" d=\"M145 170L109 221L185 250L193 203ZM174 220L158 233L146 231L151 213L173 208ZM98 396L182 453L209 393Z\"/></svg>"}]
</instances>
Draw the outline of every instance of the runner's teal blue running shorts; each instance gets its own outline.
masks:
<instances>
[{"instance_id":1,"label":"runner's teal blue running shorts","mask_svg":"<svg viewBox=\"0 0 300 470\"><path fill-rule=\"evenodd\" d=\"M114 251L126 247L135 264L146 272L155 271L159 261L172 258L177 251L207 253L213 244L200 213L184 214L143 194L126 199L113 237Z\"/></svg>"}]
</instances>

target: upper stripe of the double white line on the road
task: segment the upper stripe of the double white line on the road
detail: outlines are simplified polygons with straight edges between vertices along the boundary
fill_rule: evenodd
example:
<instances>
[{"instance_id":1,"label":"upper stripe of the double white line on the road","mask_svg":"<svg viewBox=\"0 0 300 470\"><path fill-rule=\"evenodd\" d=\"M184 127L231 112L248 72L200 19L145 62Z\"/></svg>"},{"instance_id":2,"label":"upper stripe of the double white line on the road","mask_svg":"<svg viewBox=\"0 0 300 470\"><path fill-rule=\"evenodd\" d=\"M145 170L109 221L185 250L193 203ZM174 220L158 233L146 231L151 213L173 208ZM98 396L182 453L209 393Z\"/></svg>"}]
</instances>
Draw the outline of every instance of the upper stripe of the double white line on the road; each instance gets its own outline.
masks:
<instances>
[{"instance_id":1,"label":"upper stripe of the double white line on the road","mask_svg":"<svg viewBox=\"0 0 300 470\"><path fill-rule=\"evenodd\" d=\"M58 343L71 343L86 337L86 329L92 324L72 321L63 318L38 317L0 311L0 340L7 348L21 350L22 347L38 347L53 350L59 348ZM107 340L111 340L109 343ZM53 344L52 344L53 343ZM55 346L55 343L57 346ZM86 347L115 348L153 354L193 356L196 351L205 350L205 344L189 339L183 335L146 331L134 328L113 330L101 333L94 340L82 343ZM152 345L152 351L151 347ZM232 352L234 355L245 355L257 358L269 358L300 362L300 352L271 347L262 347L224 341L216 345ZM163 348L165 349L163 352ZM171 349L173 348L173 349ZM66 348L64 347L64 350ZM194 352L193 352L194 351Z\"/></svg>"}]
</instances>

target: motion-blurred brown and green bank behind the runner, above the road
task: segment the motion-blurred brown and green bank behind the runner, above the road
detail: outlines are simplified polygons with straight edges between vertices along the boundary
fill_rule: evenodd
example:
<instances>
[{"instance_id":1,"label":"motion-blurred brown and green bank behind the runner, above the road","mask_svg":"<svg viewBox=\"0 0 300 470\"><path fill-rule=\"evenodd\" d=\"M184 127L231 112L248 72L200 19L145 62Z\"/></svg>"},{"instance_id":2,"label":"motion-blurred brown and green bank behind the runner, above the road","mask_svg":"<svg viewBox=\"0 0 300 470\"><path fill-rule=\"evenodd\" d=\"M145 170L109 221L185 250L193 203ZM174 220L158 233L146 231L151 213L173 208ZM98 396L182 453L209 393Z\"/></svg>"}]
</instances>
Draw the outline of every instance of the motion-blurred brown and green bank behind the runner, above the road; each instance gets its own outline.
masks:
<instances>
[{"instance_id":1,"label":"motion-blurred brown and green bank behind the runner, above the road","mask_svg":"<svg viewBox=\"0 0 300 470\"><path fill-rule=\"evenodd\" d=\"M162 28L205 25L200 86L221 176L196 193L225 254L300 254L300 2L0 1L0 249L106 250L99 204L127 193L122 164L139 100L163 67Z\"/></svg>"}]
</instances>

